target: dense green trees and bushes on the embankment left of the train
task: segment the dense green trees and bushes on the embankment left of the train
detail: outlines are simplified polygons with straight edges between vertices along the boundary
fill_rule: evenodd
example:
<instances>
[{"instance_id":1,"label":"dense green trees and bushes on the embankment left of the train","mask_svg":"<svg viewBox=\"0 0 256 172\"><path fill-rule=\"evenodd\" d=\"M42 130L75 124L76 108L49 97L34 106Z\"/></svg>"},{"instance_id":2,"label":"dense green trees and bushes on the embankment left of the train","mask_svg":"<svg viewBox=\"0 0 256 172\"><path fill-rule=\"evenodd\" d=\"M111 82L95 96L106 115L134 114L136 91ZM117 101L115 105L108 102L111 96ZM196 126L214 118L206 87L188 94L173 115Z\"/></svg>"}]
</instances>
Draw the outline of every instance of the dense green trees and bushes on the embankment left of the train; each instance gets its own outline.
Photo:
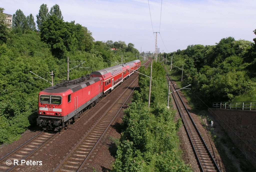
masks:
<instances>
[{"instance_id":1,"label":"dense green trees and bushes on the embankment left of the train","mask_svg":"<svg viewBox=\"0 0 256 172\"><path fill-rule=\"evenodd\" d=\"M42 4L37 17L27 17L18 9L13 15L13 28L5 24L4 9L0 8L0 144L19 137L28 127L35 125L39 91L50 83L30 73L51 81L49 72L54 72L54 84L67 79L67 57L70 61L86 61L74 68L69 79L90 74L113 65L136 59L138 50L132 43L123 41L95 41L92 33L75 21L64 22L56 4L50 12ZM112 51L111 48L117 48ZM79 62L70 62L70 68Z\"/></svg>"}]
</instances>

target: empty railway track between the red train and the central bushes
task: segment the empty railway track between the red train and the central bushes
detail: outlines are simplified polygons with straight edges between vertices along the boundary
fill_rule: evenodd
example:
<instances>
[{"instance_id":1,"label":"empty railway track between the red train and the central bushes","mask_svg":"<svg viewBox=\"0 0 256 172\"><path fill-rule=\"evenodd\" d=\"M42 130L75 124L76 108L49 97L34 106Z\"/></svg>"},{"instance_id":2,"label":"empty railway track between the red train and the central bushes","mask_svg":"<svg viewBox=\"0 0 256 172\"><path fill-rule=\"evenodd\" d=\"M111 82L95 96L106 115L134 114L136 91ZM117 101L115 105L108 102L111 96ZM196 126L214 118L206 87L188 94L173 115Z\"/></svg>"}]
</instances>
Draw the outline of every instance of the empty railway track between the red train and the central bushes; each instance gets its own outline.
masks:
<instances>
[{"instance_id":1,"label":"empty railway track between the red train and the central bushes","mask_svg":"<svg viewBox=\"0 0 256 172\"><path fill-rule=\"evenodd\" d=\"M136 77L137 79L138 77ZM130 97L133 90L137 86L136 79L123 92L123 94L113 103L113 105L104 113L97 123L87 132L86 135L77 143L77 145L70 151L70 153L62 160L56 167L56 171L80 171L87 163L88 158L93 150L100 142L104 133L108 130L115 117ZM132 89L131 89L132 88ZM89 165L89 164L87 164Z\"/></svg>"}]
</instances>

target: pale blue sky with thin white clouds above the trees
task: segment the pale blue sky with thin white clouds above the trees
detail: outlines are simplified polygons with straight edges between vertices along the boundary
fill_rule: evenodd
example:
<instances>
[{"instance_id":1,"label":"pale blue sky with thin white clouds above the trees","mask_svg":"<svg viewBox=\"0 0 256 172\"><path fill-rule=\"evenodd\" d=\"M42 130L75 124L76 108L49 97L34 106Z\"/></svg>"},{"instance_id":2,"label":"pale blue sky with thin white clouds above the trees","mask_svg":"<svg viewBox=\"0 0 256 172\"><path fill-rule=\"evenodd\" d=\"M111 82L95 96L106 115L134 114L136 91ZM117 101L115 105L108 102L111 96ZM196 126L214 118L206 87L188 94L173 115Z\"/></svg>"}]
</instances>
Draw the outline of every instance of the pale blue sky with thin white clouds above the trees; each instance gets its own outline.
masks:
<instances>
[{"instance_id":1,"label":"pale blue sky with thin white clouds above the trees","mask_svg":"<svg viewBox=\"0 0 256 172\"><path fill-rule=\"evenodd\" d=\"M155 51L153 32L160 32L157 47L167 53L230 36L252 42L256 37L255 0L0 0L0 7L7 14L20 9L36 22L43 3L49 10L58 4L63 20L87 27L95 41L133 43L140 52Z\"/></svg>"}]
</instances>

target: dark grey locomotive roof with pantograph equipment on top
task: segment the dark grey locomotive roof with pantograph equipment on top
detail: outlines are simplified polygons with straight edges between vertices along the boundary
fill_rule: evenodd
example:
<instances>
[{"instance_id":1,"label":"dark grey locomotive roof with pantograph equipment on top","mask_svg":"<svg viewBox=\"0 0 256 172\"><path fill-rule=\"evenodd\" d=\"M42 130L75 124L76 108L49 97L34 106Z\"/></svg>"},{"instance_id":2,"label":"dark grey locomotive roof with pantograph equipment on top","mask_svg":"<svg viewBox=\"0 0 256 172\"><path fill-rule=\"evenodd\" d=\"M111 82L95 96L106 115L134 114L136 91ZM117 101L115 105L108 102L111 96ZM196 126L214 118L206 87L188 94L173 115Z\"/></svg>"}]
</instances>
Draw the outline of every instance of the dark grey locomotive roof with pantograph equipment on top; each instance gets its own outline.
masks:
<instances>
[{"instance_id":1,"label":"dark grey locomotive roof with pantograph equipment on top","mask_svg":"<svg viewBox=\"0 0 256 172\"><path fill-rule=\"evenodd\" d=\"M100 81L99 77L81 77L78 79L74 79L71 81L65 81L60 84L51 86L49 88L44 89L44 92L47 93L65 93L69 89L71 89L73 92L80 90L84 87L87 87L95 82Z\"/></svg>"}]
</instances>

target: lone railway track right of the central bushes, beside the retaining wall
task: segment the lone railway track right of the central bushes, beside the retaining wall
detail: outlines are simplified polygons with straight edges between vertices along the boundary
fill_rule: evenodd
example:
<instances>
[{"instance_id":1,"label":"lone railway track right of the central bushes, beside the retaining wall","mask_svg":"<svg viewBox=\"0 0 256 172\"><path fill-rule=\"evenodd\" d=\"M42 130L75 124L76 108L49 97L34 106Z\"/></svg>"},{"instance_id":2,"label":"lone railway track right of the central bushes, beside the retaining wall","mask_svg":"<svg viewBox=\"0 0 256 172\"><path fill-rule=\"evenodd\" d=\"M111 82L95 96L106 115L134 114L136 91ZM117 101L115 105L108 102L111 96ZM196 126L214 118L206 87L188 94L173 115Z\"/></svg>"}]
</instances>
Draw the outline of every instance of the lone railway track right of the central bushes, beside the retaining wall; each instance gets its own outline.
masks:
<instances>
[{"instance_id":1,"label":"lone railway track right of the central bushes, beside the retaining wall","mask_svg":"<svg viewBox=\"0 0 256 172\"><path fill-rule=\"evenodd\" d=\"M214 157L211 155L204 139L202 138L199 130L197 129L196 124L194 123L192 117L190 116L190 113L188 112L167 71L166 79L167 82L171 81L170 90L172 92L173 99L175 101L179 114L182 118L191 146L194 149L194 153L201 171L220 172L220 169L217 163L215 162Z\"/></svg>"}]
</instances>

